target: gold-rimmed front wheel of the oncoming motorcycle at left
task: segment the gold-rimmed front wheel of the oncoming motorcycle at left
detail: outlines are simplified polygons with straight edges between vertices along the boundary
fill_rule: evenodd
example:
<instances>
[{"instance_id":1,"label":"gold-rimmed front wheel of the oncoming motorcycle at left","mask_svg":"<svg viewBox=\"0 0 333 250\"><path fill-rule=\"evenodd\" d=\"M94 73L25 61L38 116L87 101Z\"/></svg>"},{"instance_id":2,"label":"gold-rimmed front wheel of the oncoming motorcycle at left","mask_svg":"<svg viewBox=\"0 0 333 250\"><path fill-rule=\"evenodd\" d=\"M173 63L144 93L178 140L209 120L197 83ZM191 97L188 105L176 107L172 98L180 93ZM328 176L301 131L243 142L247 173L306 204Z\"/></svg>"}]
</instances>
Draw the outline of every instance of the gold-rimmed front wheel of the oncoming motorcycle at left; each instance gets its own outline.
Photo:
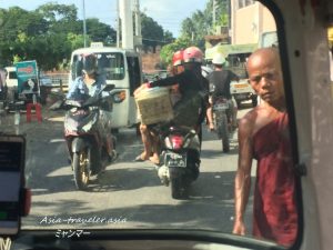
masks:
<instances>
[{"instance_id":1,"label":"gold-rimmed front wheel of the oncoming motorcycle at left","mask_svg":"<svg viewBox=\"0 0 333 250\"><path fill-rule=\"evenodd\" d=\"M89 148L80 150L79 153L73 153L73 170L74 181L79 190L87 190L90 179L90 156Z\"/></svg>"}]
</instances>

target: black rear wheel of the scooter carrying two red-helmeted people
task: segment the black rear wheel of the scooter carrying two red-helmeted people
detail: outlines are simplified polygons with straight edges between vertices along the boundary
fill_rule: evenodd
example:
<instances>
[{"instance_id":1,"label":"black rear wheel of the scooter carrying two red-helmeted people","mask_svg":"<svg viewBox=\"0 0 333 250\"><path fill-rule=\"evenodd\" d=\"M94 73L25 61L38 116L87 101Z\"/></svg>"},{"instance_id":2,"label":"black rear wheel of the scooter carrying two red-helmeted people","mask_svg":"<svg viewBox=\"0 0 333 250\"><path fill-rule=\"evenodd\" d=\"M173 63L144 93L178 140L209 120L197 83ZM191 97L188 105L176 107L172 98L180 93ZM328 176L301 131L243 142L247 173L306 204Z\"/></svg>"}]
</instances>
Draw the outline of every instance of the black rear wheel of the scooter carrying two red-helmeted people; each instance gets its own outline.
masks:
<instances>
[{"instance_id":1,"label":"black rear wheel of the scooter carrying two red-helmeted people","mask_svg":"<svg viewBox=\"0 0 333 250\"><path fill-rule=\"evenodd\" d=\"M171 187L171 197L173 199L185 199L188 197L188 189L183 181L182 176L176 168L170 168L170 187Z\"/></svg>"}]
</instances>

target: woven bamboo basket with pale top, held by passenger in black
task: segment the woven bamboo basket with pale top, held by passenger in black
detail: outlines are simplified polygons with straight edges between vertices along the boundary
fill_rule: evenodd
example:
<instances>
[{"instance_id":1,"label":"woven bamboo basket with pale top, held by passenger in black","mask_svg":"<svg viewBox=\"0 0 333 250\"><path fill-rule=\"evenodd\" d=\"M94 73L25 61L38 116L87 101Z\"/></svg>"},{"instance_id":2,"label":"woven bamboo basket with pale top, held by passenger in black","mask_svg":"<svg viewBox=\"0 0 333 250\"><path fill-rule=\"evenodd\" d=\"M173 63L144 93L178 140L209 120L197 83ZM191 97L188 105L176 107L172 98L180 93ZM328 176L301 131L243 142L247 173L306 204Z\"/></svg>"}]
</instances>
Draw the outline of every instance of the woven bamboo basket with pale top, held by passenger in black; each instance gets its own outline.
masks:
<instances>
[{"instance_id":1,"label":"woven bamboo basket with pale top, held by passenger in black","mask_svg":"<svg viewBox=\"0 0 333 250\"><path fill-rule=\"evenodd\" d=\"M135 97L135 102L143 124L153 124L173 119L168 88L144 89Z\"/></svg>"}]
</instances>

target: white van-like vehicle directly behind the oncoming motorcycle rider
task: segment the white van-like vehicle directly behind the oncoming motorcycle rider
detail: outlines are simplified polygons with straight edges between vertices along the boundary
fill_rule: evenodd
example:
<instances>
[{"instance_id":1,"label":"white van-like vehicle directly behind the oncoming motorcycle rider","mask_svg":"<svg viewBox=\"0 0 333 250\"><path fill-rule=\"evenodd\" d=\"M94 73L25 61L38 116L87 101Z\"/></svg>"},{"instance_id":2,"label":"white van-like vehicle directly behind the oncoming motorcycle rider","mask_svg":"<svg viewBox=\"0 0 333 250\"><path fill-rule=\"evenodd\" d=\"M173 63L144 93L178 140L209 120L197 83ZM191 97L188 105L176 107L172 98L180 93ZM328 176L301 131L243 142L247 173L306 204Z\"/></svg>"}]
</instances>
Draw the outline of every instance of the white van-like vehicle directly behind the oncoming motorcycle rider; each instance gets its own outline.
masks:
<instances>
[{"instance_id":1,"label":"white van-like vehicle directly behind the oncoming motorcycle rider","mask_svg":"<svg viewBox=\"0 0 333 250\"><path fill-rule=\"evenodd\" d=\"M112 129L133 127L139 123L134 90L142 82L141 59L134 50L115 47L90 47L77 49L71 56L69 88L81 74L78 61L82 54L94 53L98 58L99 71L105 73L107 83L114 84Z\"/></svg>"}]
</instances>

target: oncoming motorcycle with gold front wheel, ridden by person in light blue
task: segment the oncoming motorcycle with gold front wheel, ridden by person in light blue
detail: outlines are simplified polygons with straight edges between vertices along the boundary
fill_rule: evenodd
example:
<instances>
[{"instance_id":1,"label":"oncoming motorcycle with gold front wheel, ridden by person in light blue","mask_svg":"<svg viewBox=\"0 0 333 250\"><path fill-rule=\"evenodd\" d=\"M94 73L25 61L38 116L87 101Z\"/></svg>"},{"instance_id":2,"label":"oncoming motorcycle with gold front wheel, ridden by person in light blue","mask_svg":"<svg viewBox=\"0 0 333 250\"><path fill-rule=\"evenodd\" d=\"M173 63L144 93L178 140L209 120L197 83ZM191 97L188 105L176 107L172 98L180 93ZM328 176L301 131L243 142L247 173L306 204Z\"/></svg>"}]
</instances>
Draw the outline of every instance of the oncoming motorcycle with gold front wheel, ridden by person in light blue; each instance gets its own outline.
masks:
<instances>
[{"instance_id":1,"label":"oncoming motorcycle with gold front wheel, ridden by person in light blue","mask_svg":"<svg viewBox=\"0 0 333 250\"><path fill-rule=\"evenodd\" d=\"M112 97L108 92L113 88L109 84L94 97L82 94L78 100L67 99L58 108L65 110L64 138L79 190L87 190L90 177L100 173L113 160L108 153L107 134L112 140L115 157L115 138L111 134L111 120L105 116L111 111ZM102 97L104 92L108 97Z\"/></svg>"}]
</instances>

